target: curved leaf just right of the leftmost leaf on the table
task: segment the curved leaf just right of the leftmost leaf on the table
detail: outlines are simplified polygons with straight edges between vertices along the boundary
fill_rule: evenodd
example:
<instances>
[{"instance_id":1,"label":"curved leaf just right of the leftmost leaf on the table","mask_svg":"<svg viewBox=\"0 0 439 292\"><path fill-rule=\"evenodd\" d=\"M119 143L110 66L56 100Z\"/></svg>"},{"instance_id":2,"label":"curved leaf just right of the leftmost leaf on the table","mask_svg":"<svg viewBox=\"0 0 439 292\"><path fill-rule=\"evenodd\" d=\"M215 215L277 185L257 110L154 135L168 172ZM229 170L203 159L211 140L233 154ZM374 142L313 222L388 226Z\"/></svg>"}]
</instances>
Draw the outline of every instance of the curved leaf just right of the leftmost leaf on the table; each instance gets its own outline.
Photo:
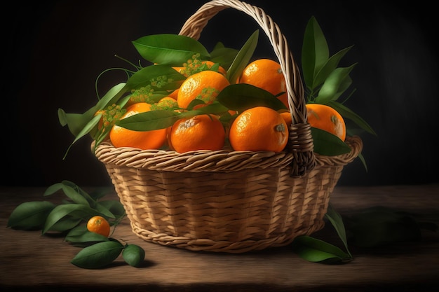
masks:
<instances>
[{"instance_id":1,"label":"curved leaf just right of the leftmost leaf on the table","mask_svg":"<svg viewBox=\"0 0 439 292\"><path fill-rule=\"evenodd\" d=\"M56 206L50 214L48 214L46 223L44 224L43 234L51 230L53 225L65 216L73 216L74 218L88 220L91 216L95 216L97 212L83 204L60 204Z\"/></svg>"}]
</instances>

